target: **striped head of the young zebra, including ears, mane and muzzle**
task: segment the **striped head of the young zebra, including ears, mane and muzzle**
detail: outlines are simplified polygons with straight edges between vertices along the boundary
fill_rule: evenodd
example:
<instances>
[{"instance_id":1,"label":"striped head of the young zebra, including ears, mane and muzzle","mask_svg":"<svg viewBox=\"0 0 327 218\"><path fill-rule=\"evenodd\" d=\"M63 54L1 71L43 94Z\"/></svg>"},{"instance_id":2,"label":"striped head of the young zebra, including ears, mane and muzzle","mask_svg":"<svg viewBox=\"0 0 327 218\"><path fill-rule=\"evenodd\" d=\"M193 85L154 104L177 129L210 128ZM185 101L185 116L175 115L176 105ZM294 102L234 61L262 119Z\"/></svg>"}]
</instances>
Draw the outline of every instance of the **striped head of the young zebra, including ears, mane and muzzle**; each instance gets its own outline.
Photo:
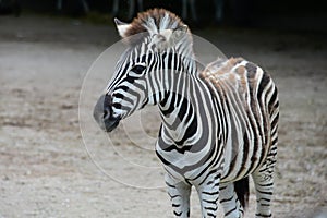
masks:
<instances>
[{"instance_id":1,"label":"striped head of the young zebra, including ears, mane and muzzle","mask_svg":"<svg viewBox=\"0 0 327 218\"><path fill-rule=\"evenodd\" d=\"M193 53L187 26L166 10L140 13L131 24L116 19L116 25L128 49L94 111L108 132L134 111L162 101L173 80L169 74L181 71L183 57Z\"/></svg>"}]
</instances>

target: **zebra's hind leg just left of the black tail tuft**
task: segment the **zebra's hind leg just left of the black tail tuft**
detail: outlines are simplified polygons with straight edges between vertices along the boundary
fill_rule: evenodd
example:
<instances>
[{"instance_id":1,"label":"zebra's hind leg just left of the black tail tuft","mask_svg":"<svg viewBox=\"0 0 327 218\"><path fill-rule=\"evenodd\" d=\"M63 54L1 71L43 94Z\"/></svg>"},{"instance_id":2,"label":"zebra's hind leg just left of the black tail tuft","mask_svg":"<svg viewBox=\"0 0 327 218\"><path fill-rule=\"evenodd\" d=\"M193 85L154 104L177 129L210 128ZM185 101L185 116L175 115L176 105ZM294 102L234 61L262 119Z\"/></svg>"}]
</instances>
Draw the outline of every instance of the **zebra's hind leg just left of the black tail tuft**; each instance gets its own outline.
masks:
<instances>
[{"instance_id":1,"label":"zebra's hind leg just left of the black tail tuft","mask_svg":"<svg viewBox=\"0 0 327 218\"><path fill-rule=\"evenodd\" d=\"M220 184L219 202L223 208L225 217L241 218L244 209L234 190L234 183Z\"/></svg>"}]
</instances>

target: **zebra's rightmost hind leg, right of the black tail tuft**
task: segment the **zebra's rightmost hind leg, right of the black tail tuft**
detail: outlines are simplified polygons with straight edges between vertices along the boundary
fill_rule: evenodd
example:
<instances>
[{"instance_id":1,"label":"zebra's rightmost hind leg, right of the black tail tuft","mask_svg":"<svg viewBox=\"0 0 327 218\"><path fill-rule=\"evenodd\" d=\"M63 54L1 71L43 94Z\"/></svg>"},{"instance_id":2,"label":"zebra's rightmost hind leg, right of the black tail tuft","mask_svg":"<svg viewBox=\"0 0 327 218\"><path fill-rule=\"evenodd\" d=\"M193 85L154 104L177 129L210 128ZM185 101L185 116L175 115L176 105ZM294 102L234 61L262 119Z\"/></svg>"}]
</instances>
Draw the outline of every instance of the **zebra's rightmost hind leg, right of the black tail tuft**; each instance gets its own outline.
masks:
<instances>
[{"instance_id":1,"label":"zebra's rightmost hind leg, right of the black tail tuft","mask_svg":"<svg viewBox=\"0 0 327 218\"><path fill-rule=\"evenodd\" d=\"M276 146L272 146L263 166L252 173L256 190L256 217L272 217L271 198L275 164Z\"/></svg>"}]
</instances>

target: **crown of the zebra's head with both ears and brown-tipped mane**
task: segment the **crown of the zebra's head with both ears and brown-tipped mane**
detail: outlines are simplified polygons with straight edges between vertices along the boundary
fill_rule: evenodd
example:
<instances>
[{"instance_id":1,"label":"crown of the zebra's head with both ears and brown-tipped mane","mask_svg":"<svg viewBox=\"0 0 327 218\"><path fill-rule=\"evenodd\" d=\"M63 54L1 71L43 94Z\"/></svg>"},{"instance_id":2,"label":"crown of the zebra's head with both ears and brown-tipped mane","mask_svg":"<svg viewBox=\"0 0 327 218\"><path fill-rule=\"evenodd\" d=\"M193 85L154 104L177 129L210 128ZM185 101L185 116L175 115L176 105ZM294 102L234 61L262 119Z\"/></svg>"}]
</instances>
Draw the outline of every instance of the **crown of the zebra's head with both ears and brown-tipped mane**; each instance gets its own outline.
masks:
<instances>
[{"instance_id":1,"label":"crown of the zebra's head with both ears and brown-tipped mane","mask_svg":"<svg viewBox=\"0 0 327 218\"><path fill-rule=\"evenodd\" d=\"M189 65L189 71L197 71L192 34L174 13L165 9L152 9L138 13L130 24L117 19L114 22L122 41L129 49L138 49L142 41L146 41L148 48L155 52L174 48L174 51L183 57L184 64Z\"/></svg>"}]
</instances>

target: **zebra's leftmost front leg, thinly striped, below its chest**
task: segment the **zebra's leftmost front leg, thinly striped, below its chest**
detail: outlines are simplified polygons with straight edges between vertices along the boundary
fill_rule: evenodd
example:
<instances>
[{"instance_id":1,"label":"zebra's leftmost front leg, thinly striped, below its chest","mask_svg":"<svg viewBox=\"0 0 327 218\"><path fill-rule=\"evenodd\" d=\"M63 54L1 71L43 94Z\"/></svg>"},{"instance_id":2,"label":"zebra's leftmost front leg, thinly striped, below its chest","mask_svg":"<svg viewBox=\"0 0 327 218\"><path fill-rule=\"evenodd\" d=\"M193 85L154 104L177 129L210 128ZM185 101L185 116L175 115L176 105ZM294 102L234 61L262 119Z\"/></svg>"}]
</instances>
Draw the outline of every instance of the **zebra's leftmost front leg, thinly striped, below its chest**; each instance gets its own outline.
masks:
<instances>
[{"instance_id":1,"label":"zebra's leftmost front leg, thinly striped, below its chest","mask_svg":"<svg viewBox=\"0 0 327 218\"><path fill-rule=\"evenodd\" d=\"M166 184L174 216L189 218L191 185L182 181L177 182L170 175L166 175Z\"/></svg>"}]
</instances>

